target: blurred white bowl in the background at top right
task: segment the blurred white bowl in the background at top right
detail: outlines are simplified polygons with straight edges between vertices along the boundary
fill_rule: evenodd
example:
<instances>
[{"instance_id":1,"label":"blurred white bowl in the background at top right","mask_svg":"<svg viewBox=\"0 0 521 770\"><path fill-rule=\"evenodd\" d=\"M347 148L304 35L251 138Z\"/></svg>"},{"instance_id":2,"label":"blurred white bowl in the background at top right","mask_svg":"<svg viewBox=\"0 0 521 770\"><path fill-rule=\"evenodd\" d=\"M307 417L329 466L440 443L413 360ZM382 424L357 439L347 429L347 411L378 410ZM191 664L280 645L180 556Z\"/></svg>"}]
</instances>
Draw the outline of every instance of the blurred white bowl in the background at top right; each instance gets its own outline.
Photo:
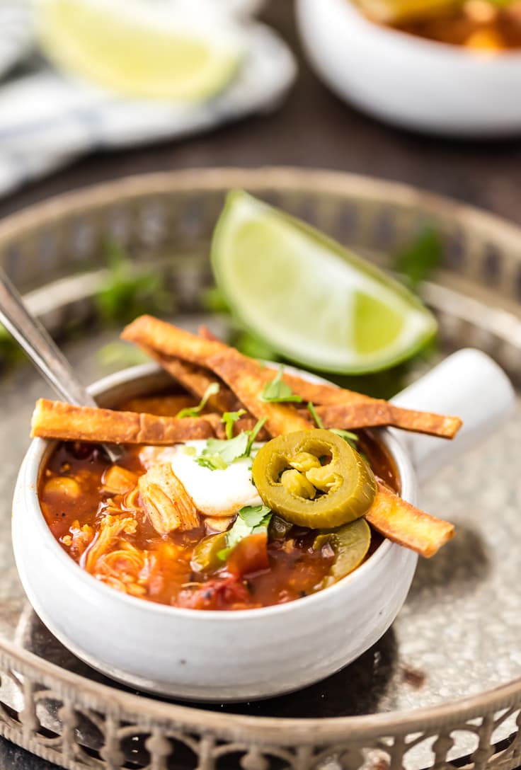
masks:
<instances>
[{"instance_id":1,"label":"blurred white bowl in the background at top right","mask_svg":"<svg viewBox=\"0 0 521 770\"><path fill-rule=\"evenodd\" d=\"M297 0L297 22L318 75L377 118L453 136L521 131L521 53L407 35L369 22L349 0Z\"/></svg>"}]
</instances>

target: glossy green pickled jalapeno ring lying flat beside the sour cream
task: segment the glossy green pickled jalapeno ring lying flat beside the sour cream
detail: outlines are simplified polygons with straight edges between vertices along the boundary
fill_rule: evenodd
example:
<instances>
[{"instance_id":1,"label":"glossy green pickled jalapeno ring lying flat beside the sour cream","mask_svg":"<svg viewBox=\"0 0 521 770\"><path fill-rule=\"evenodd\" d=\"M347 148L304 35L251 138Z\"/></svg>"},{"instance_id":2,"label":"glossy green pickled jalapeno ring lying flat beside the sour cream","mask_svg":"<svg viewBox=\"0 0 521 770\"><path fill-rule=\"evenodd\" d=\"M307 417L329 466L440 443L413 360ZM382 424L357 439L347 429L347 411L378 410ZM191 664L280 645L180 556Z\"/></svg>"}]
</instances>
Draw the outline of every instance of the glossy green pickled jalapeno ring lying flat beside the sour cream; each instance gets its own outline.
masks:
<instances>
[{"instance_id":1,"label":"glossy green pickled jalapeno ring lying flat beside the sour cream","mask_svg":"<svg viewBox=\"0 0 521 770\"><path fill-rule=\"evenodd\" d=\"M330 491L314 499L284 487L281 476L291 468L291 458L306 452L331 457L328 467L338 477ZM365 460L345 440L330 430L315 428L284 434L261 447L252 467L254 483L264 504L291 524L311 529L340 527L363 516L376 495L374 474Z\"/></svg>"}]
</instances>

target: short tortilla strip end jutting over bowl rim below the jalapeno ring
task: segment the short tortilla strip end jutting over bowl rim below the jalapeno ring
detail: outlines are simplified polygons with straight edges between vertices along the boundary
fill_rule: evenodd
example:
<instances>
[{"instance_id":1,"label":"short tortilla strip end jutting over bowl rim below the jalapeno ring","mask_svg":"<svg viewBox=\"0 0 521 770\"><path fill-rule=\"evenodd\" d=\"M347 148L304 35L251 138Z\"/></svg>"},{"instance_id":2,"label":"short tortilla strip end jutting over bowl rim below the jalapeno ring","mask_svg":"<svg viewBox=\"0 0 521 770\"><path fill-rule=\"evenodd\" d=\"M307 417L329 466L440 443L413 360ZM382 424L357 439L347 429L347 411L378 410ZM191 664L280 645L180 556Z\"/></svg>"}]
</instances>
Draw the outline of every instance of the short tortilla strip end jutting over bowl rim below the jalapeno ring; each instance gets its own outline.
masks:
<instances>
[{"instance_id":1,"label":"short tortilla strip end jutting over bowl rim below the jalapeno ring","mask_svg":"<svg viewBox=\"0 0 521 770\"><path fill-rule=\"evenodd\" d=\"M395 543L405 545L426 558L454 537L454 526L437 519L402 500L382 481L365 518L381 534Z\"/></svg>"}]
</instances>

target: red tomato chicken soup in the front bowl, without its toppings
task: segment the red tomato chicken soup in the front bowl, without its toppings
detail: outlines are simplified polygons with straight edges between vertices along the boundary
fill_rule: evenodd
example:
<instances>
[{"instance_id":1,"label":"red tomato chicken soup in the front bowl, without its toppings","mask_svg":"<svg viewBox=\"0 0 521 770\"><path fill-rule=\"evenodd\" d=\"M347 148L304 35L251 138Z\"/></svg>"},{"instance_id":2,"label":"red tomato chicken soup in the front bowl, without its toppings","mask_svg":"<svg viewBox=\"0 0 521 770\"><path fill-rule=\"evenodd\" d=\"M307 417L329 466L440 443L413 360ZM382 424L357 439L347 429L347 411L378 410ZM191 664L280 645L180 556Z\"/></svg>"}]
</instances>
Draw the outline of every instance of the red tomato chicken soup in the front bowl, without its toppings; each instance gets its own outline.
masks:
<instances>
[{"instance_id":1,"label":"red tomato chicken soup in the front bowl, without its toppings","mask_svg":"<svg viewBox=\"0 0 521 770\"><path fill-rule=\"evenodd\" d=\"M177 405L177 398L183 397L157 398L153 408L166 414L173 403ZM130 406L143 408L139 400ZM150 400L146 407L152 408ZM395 467L385 447L369 431L361 432L358 441L375 474L398 490ZM237 513L198 512L193 527L158 531L161 527L154 526L139 492L143 490L139 478L143 480L158 462L161 467L169 463L176 467L175 457L179 467L193 463L194 472L203 476L204 469L196 467L196 460L197 450L204 444L126 447L123 458L113 466L96 444L59 443L39 484L42 512L52 534L98 580L126 594L176 607L259 608L293 601L334 582L331 567L336 554L331 534L291 525L276 513L265 526L266 537L261 527L251 527L249 536L229 554L223 551L227 534L234 524L237 528ZM187 453L192 449L196 451ZM207 480L201 484L212 484L223 471L207 469L206 473ZM262 511L257 516L260 514ZM242 520L239 524L247 527ZM381 541L372 531L362 558Z\"/></svg>"}]
</instances>

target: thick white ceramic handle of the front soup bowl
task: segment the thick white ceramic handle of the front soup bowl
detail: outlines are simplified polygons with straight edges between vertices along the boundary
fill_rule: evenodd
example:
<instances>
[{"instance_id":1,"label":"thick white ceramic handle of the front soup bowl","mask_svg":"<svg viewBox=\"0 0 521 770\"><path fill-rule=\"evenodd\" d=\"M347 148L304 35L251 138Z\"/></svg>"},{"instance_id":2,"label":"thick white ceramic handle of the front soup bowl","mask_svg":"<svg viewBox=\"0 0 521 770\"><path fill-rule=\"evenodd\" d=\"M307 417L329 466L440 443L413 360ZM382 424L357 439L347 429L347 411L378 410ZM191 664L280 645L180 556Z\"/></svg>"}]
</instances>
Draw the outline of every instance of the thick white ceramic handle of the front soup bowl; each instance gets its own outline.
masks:
<instances>
[{"instance_id":1,"label":"thick white ceramic handle of the front soup bowl","mask_svg":"<svg viewBox=\"0 0 521 770\"><path fill-rule=\"evenodd\" d=\"M452 441L402 434L421 484L472 447L481 446L506 423L515 408L516 393L492 358L481 350L464 348L398 393L392 403L408 409L455 414L463 420Z\"/></svg>"}]
</instances>

